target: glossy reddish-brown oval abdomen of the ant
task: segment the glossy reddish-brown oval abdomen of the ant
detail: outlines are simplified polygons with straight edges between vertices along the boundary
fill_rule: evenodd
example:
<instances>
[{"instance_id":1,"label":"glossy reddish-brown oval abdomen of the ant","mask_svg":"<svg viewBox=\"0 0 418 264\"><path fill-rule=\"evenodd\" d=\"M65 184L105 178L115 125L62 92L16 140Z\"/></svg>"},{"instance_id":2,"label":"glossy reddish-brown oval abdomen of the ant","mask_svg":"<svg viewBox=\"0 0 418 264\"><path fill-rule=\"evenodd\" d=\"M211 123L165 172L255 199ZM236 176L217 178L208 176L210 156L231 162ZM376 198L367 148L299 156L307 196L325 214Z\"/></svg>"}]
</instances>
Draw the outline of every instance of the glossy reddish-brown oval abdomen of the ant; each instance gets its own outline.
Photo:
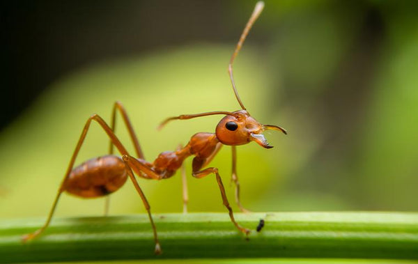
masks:
<instances>
[{"instance_id":1,"label":"glossy reddish-brown oval abdomen of the ant","mask_svg":"<svg viewBox=\"0 0 418 264\"><path fill-rule=\"evenodd\" d=\"M126 166L120 157L96 157L72 169L63 189L84 198L95 198L115 192L127 179Z\"/></svg>"}]
</instances>

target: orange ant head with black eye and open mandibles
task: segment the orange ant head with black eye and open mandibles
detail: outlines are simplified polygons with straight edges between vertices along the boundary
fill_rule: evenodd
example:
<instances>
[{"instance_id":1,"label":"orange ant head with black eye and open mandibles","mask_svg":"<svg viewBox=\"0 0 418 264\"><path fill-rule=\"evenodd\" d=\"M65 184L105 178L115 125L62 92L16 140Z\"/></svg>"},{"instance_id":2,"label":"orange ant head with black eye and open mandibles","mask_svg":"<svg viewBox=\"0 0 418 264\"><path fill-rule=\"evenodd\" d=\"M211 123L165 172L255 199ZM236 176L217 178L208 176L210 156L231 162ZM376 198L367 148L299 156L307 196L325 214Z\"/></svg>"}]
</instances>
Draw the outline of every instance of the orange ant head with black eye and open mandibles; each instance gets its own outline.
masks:
<instances>
[{"instance_id":1,"label":"orange ant head with black eye and open mandibles","mask_svg":"<svg viewBox=\"0 0 418 264\"><path fill-rule=\"evenodd\" d=\"M275 125L262 125L252 118L247 110L238 110L219 121L216 127L217 139L229 146L238 146L256 141L263 148L272 148L265 140L264 130L279 130L286 134L286 130Z\"/></svg>"}]
</instances>

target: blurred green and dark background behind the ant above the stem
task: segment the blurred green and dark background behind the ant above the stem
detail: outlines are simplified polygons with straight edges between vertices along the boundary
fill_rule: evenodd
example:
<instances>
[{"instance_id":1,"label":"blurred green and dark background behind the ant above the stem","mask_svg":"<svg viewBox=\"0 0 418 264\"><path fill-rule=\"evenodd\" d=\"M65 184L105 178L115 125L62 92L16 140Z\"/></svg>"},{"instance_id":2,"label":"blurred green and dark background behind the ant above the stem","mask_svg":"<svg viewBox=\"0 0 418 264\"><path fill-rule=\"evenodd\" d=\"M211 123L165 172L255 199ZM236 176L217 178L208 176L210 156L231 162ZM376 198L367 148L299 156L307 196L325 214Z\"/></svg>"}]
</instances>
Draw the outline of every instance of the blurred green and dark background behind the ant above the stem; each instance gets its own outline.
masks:
<instances>
[{"instance_id":1,"label":"blurred green and dark background behind the ant above the stem","mask_svg":"<svg viewBox=\"0 0 418 264\"><path fill-rule=\"evenodd\" d=\"M226 69L255 1L1 3L0 216L46 216L88 116L125 105L148 160L214 132L239 109ZM254 211L418 210L418 4L265 1L235 61L242 101L274 146L238 147ZM121 120L119 120L121 121ZM133 148L122 122L117 134ZM77 159L107 153L93 124ZM231 149L212 162L233 202ZM225 211L215 179L190 176L189 210ZM153 212L181 212L180 176L141 180ZM127 184L111 214L144 212ZM100 215L104 199L63 195L56 215Z\"/></svg>"}]
</instances>

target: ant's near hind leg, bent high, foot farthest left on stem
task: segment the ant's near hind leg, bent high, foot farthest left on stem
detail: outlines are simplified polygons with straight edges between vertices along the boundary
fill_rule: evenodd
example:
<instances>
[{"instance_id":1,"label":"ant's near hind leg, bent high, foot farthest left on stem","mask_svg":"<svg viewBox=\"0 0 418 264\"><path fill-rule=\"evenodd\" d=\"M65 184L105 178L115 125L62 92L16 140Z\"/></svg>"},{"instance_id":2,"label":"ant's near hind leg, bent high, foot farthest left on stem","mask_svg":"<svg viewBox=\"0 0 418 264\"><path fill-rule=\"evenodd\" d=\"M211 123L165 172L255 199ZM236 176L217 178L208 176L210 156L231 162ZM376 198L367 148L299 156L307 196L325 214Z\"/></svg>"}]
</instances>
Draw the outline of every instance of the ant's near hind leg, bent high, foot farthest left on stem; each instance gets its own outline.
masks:
<instances>
[{"instance_id":1,"label":"ant's near hind leg, bent high, foot farthest left on stem","mask_svg":"<svg viewBox=\"0 0 418 264\"><path fill-rule=\"evenodd\" d=\"M49 226L49 223L51 222L52 216L54 215L54 211L56 208L56 205L59 201L59 198L61 196L61 194L63 193L63 191L65 191L65 182L68 179L68 176L70 176L72 167L74 166L74 162L75 159L79 153L80 148L82 147L82 144L84 142L84 139L86 138L86 134L88 132L88 128L90 127L91 121L96 121L99 123L99 125L102 126L104 132L107 133L107 135L111 138L111 141L114 143L114 145L116 146L116 148L118 148L119 152L123 155L127 155L127 151L125 149L125 147L122 145L121 141L119 141L119 139L115 136L114 132L111 131L110 127L107 125L107 123L105 123L103 121L103 119L98 116L97 114L94 114L93 116L91 116L90 118L88 118L88 120L86 121L86 125L84 125L82 134L79 137L79 141L77 143L77 146L75 147L74 153L72 153L72 157L70 160L70 163L68 164L68 169L65 172L63 181L58 189L58 194L56 194L54 203L52 204L52 208L49 212L49 215L47 217L47 221L45 222L45 224L39 228L37 231L33 232L33 233L29 233L26 234L22 237L22 241L26 242L29 240L32 240L33 238L36 238L38 235L40 235L43 231L45 231L45 229Z\"/></svg>"}]
</instances>

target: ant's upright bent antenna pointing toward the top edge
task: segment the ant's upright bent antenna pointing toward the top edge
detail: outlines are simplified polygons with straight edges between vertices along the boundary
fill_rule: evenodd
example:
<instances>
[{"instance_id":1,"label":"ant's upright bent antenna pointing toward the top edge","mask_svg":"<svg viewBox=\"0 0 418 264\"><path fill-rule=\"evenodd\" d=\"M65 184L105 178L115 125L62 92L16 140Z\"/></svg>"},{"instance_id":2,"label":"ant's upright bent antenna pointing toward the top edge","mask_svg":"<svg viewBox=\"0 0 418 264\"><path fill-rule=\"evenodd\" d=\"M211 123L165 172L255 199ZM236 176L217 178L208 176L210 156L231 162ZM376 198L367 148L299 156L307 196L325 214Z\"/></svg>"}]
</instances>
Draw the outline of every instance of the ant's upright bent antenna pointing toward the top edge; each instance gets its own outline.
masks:
<instances>
[{"instance_id":1,"label":"ant's upright bent antenna pointing toward the top edge","mask_svg":"<svg viewBox=\"0 0 418 264\"><path fill-rule=\"evenodd\" d=\"M254 22L256 22L258 16L261 14L261 11L263 11L263 8L264 8L264 2L258 1L256 3L256 7L254 8L253 13L251 14L251 17L249 17L249 20L247 22L247 25L245 26L244 31L242 31L240 40L238 41L237 47L235 47L235 51L233 52L231 56L231 60L229 61L229 65L228 65L229 78L231 78L233 93L235 93L235 98L237 98L238 102L240 103L242 110L247 110L247 109L245 109L244 104L242 104L240 95L238 95L237 88L235 87L235 81L233 81L232 64L233 64L233 60L238 55L238 52L240 51L242 44L245 41L245 38L247 38L248 32L251 29L251 26L254 24Z\"/></svg>"}]
</instances>

